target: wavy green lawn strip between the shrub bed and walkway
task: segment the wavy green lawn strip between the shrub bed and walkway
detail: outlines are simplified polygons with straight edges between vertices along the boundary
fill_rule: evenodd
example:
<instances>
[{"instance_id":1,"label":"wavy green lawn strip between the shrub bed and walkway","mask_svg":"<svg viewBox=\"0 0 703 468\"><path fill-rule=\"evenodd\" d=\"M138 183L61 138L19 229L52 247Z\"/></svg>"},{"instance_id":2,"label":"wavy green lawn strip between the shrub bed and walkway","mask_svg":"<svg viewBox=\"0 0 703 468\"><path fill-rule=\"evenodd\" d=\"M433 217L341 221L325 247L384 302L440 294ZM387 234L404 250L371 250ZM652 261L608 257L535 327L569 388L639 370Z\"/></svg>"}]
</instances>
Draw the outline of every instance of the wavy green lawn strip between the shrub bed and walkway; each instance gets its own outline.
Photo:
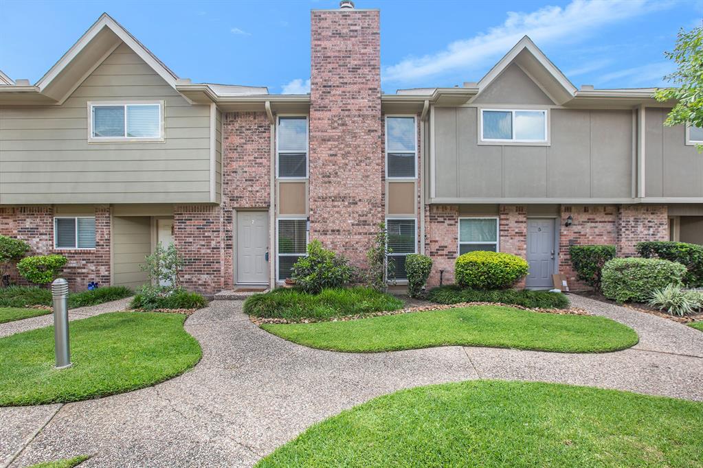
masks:
<instances>
[{"instance_id":1,"label":"wavy green lawn strip between the shrub bed and walkway","mask_svg":"<svg viewBox=\"0 0 703 468\"><path fill-rule=\"evenodd\" d=\"M600 316L474 306L352 321L262 325L312 348L380 352L464 345L555 352L609 352L636 345L631 328Z\"/></svg>"}]
</instances>

